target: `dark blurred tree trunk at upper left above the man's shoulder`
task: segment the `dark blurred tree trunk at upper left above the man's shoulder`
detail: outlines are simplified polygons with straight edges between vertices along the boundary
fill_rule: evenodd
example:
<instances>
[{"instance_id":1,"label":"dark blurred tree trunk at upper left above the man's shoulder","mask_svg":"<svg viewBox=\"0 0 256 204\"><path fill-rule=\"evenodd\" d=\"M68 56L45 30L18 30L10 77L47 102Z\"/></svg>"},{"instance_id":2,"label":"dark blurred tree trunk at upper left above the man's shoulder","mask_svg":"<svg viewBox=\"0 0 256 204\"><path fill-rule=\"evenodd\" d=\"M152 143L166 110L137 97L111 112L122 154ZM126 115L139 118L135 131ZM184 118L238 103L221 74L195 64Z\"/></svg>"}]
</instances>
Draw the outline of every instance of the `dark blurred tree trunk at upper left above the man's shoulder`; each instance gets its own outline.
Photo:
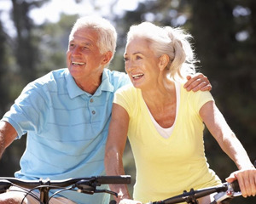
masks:
<instances>
[{"instance_id":1,"label":"dark blurred tree trunk at upper left above the man's shoulder","mask_svg":"<svg viewBox=\"0 0 256 204\"><path fill-rule=\"evenodd\" d=\"M12 0L12 19L17 33L14 41L14 54L20 68L20 76L26 79L26 82L31 82L36 78L35 70L39 58L38 37L32 32L35 25L28 14L33 7L40 7L48 1Z\"/></svg>"}]
</instances>

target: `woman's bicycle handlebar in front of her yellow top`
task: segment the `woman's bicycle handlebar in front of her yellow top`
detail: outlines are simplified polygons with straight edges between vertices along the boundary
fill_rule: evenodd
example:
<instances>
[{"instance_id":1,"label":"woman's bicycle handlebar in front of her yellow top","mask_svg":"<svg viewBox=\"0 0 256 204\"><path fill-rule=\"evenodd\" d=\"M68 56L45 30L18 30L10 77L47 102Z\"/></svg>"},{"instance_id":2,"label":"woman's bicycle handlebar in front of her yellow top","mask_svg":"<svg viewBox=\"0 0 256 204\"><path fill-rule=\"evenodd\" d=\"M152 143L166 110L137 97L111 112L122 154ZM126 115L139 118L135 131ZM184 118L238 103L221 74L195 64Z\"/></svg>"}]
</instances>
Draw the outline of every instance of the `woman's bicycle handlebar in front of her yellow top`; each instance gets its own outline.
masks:
<instances>
[{"instance_id":1,"label":"woman's bicycle handlebar in front of her yellow top","mask_svg":"<svg viewBox=\"0 0 256 204\"><path fill-rule=\"evenodd\" d=\"M223 204L229 204L234 197L241 195L239 184L238 181L236 180L232 183L226 182L218 186L203 188L201 190L191 189L189 192L184 190L183 194L167 198L164 201L150 201L146 204L177 204L181 202L187 202L189 204L198 204L198 201L196 199L204 197L206 195L211 195L212 193L217 194L214 195L214 201L212 201L209 204L216 204L218 202Z\"/></svg>"}]
</instances>

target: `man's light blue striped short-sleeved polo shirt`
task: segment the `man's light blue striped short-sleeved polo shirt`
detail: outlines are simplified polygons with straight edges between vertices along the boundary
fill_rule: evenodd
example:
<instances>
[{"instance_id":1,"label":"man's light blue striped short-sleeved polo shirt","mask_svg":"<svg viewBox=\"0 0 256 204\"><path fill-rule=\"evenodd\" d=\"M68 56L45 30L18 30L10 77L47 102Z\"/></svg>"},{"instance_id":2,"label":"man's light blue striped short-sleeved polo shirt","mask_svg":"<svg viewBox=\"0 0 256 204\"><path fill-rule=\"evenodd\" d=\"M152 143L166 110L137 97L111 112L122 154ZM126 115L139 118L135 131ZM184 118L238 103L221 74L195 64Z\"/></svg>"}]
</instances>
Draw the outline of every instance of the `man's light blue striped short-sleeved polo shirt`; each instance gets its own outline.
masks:
<instances>
[{"instance_id":1,"label":"man's light blue striped short-sleeved polo shirt","mask_svg":"<svg viewBox=\"0 0 256 204\"><path fill-rule=\"evenodd\" d=\"M104 69L102 83L91 95L76 85L68 69L61 69L29 83L2 119L15 127L18 138L27 133L15 177L57 180L104 175L113 95L129 82L125 73ZM61 195L83 204L109 201L107 194Z\"/></svg>"}]
</instances>

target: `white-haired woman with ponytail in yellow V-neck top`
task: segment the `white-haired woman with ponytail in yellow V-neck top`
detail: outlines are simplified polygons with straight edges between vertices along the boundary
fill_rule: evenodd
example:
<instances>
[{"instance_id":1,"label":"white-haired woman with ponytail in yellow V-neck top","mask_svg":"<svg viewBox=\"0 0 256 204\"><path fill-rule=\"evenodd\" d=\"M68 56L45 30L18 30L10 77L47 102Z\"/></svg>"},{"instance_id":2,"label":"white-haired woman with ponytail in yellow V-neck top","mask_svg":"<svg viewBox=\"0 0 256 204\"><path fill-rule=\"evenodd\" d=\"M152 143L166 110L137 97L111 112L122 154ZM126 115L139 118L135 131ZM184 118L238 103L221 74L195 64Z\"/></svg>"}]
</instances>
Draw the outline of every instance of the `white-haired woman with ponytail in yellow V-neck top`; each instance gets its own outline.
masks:
<instances>
[{"instance_id":1,"label":"white-haired woman with ponytail in yellow V-neck top","mask_svg":"<svg viewBox=\"0 0 256 204\"><path fill-rule=\"evenodd\" d=\"M209 92L187 92L183 79L195 73L189 34L181 29L144 22L131 26L125 48L125 71L132 85L119 89L113 100L106 147L108 175L124 174L122 156L128 138L137 178L134 200L125 185L122 203L166 199L191 188L221 183L205 156L204 123L224 152L236 163L243 196L256 194L256 170L236 135L224 120ZM211 196L199 199L209 203Z\"/></svg>"}]
</instances>

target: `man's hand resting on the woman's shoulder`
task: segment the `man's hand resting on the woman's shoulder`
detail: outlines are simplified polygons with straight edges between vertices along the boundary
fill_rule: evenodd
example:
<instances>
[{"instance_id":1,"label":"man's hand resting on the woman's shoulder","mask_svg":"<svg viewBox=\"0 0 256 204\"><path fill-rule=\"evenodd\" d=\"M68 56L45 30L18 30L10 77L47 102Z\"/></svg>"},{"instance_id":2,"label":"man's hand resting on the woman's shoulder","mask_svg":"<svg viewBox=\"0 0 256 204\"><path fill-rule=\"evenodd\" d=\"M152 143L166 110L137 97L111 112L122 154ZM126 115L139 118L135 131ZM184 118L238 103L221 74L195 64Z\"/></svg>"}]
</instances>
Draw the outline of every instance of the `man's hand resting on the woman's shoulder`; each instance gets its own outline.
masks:
<instances>
[{"instance_id":1,"label":"man's hand resting on the woman's shoulder","mask_svg":"<svg viewBox=\"0 0 256 204\"><path fill-rule=\"evenodd\" d=\"M201 73L196 73L193 76L187 77L188 82L184 84L184 88L187 89L187 91L211 91L212 85L209 82L208 78L204 76Z\"/></svg>"}]
</instances>

